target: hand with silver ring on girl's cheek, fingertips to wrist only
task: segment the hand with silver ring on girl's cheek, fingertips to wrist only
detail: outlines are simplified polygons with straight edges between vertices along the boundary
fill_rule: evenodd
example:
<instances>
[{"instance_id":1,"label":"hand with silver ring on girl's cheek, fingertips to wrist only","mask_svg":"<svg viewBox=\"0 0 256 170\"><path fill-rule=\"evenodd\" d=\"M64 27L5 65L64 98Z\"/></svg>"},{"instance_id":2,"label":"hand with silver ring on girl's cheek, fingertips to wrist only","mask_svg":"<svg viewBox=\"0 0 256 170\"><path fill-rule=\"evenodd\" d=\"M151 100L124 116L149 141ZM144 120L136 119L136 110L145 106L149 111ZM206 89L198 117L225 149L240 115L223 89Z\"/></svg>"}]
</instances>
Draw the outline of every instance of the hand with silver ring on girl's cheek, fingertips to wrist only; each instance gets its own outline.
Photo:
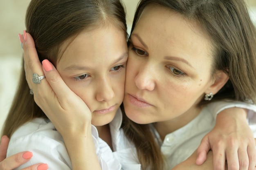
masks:
<instances>
[{"instance_id":1,"label":"hand with silver ring on girl's cheek, fingertips to wrist only","mask_svg":"<svg viewBox=\"0 0 256 170\"><path fill-rule=\"evenodd\" d=\"M52 121L63 138L80 132L91 134L91 112L88 106L63 82L56 68L48 60L43 61L42 68L33 38L29 33L24 35L26 35L25 43L23 41L26 79L29 88L33 89L36 104ZM42 79L41 84L34 84L33 73L39 76L45 75L46 79Z\"/></svg>"}]
</instances>

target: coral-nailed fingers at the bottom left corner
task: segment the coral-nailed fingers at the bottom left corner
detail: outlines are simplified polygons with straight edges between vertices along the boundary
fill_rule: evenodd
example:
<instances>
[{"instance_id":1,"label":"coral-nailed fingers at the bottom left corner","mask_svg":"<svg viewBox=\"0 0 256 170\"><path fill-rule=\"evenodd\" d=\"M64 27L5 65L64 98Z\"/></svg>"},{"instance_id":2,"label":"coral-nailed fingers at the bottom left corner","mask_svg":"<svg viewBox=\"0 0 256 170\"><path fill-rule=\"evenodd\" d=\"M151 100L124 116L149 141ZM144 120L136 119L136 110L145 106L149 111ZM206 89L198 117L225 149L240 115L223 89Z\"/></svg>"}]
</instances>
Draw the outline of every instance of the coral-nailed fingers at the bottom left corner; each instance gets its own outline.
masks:
<instances>
[{"instance_id":1,"label":"coral-nailed fingers at the bottom left corner","mask_svg":"<svg viewBox=\"0 0 256 170\"><path fill-rule=\"evenodd\" d=\"M3 136L0 144L0 170L13 170L18 168L23 163L26 163L31 159L33 154L31 152L25 151L20 152L10 157L6 157L7 147L9 144L9 138ZM35 165L29 166L22 170L47 170L48 166L45 163L37 163Z\"/></svg>"}]
</instances>

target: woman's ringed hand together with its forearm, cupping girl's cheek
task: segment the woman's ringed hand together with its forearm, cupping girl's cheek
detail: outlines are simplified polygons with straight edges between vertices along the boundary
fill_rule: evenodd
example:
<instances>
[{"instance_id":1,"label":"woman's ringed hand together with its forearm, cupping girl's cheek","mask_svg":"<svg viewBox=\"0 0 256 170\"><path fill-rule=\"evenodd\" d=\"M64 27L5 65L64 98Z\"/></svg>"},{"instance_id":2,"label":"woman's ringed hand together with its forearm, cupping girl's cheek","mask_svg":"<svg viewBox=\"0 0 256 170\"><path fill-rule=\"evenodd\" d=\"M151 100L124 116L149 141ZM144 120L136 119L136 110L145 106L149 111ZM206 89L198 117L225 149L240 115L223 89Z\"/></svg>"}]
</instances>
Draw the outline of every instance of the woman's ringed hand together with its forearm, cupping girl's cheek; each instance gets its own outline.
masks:
<instances>
[{"instance_id":1,"label":"woman's ringed hand together with its forearm, cupping girl's cheek","mask_svg":"<svg viewBox=\"0 0 256 170\"><path fill-rule=\"evenodd\" d=\"M73 170L101 170L92 139L91 111L83 100L63 82L56 68L44 60L43 68L29 33L23 39L26 79L33 89L34 100L61 133ZM25 43L24 43L25 42ZM41 84L32 82L32 75L45 75Z\"/></svg>"}]
</instances>

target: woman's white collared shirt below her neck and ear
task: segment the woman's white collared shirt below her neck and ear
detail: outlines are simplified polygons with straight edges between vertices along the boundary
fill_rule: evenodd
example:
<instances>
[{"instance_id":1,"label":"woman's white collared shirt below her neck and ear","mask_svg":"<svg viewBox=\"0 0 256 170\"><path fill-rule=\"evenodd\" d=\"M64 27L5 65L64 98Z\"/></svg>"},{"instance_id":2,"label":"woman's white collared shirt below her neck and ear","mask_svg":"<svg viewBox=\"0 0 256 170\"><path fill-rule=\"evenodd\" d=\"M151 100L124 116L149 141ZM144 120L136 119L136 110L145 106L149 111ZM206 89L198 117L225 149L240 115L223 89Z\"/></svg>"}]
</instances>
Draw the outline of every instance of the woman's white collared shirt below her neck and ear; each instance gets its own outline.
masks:
<instances>
[{"instance_id":1,"label":"woman's white collared shirt below her neck and ear","mask_svg":"<svg viewBox=\"0 0 256 170\"><path fill-rule=\"evenodd\" d=\"M151 126L155 139L161 146L161 152L166 157L168 167L174 166L189 158L198 148L202 138L212 130L216 123L216 115L225 108L240 107L249 109L249 126L256 138L256 106L243 102L214 102L205 106L200 114L189 124L165 136L164 141L158 132Z\"/></svg>"}]
</instances>

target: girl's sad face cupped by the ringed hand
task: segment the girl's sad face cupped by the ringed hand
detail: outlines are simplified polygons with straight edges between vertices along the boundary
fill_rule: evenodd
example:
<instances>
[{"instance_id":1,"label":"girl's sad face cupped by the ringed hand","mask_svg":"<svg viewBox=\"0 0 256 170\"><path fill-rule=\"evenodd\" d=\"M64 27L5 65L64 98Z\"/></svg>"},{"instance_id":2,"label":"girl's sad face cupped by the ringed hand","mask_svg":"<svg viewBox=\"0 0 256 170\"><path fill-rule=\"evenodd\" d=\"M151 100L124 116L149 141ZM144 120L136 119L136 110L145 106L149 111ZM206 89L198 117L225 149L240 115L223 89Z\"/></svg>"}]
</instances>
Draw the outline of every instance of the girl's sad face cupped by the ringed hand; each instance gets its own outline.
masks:
<instances>
[{"instance_id":1,"label":"girl's sad face cupped by the ringed hand","mask_svg":"<svg viewBox=\"0 0 256 170\"><path fill-rule=\"evenodd\" d=\"M64 82L90 108L94 126L108 124L124 98L128 57L124 31L115 26L85 30L61 49L57 70Z\"/></svg>"}]
</instances>

